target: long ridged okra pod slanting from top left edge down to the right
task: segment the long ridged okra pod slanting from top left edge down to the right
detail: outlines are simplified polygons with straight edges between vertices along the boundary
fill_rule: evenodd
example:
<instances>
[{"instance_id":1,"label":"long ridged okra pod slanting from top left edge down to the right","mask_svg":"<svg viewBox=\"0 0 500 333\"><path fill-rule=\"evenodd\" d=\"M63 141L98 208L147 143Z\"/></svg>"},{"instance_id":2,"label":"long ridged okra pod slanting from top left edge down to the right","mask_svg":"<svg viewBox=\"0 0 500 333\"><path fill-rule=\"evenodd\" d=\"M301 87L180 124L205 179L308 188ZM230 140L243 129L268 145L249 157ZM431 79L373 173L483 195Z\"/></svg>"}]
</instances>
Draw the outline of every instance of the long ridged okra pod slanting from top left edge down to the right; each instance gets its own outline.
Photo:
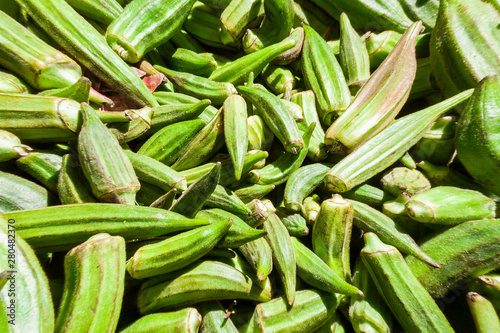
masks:
<instances>
[{"instance_id":1,"label":"long ridged okra pod slanting from top left edge down to the right","mask_svg":"<svg viewBox=\"0 0 500 333\"><path fill-rule=\"evenodd\" d=\"M19 0L31 17L98 78L140 106L158 105L142 80L64 0Z\"/></svg>"}]
</instances>

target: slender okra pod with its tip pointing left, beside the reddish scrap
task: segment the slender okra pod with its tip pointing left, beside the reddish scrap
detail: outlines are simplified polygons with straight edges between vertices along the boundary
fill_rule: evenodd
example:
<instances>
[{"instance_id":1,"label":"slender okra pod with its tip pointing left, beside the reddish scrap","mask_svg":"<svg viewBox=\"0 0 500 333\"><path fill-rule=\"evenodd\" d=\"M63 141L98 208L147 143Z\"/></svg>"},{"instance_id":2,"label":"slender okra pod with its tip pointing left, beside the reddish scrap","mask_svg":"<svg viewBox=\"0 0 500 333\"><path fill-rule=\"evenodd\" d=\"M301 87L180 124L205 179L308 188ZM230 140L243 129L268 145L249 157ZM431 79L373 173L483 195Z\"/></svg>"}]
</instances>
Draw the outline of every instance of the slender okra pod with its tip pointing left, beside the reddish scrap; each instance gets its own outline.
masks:
<instances>
[{"instance_id":1,"label":"slender okra pod with its tip pointing left, beside the reddish scrap","mask_svg":"<svg viewBox=\"0 0 500 333\"><path fill-rule=\"evenodd\" d=\"M155 65L155 68L165 74L180 92L196 98L209 99L214 105L222 105L226 98L236 93L229 82L215 82L205 77L183 73Z\"/></svg>"}]
</instances>

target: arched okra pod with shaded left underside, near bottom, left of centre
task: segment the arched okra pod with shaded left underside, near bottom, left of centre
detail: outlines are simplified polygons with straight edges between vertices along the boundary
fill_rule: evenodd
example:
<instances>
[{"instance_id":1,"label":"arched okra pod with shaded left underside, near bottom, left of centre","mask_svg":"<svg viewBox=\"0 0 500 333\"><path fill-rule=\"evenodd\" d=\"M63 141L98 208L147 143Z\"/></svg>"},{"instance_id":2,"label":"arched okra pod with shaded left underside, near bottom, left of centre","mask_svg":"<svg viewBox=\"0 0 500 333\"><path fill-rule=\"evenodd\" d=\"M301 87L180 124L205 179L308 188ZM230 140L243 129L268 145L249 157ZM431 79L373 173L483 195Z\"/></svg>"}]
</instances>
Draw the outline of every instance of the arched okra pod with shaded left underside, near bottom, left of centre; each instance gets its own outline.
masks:
<instances>
[{"instance_id":1,"label":"arched okra pod with shaded left underside, near bottom, left of centre","mask_svg":"<svg viewBox=\"0 0 500 333\"><path fill-rule=\"evenodd\" d=\"M254 280L255 279L255 280ZM271 283L258 283L253 276L218 261L198 261L176 272L146 280L139 289L141 314L224 299L267 302Z\"/></svg>"}]
</instances>

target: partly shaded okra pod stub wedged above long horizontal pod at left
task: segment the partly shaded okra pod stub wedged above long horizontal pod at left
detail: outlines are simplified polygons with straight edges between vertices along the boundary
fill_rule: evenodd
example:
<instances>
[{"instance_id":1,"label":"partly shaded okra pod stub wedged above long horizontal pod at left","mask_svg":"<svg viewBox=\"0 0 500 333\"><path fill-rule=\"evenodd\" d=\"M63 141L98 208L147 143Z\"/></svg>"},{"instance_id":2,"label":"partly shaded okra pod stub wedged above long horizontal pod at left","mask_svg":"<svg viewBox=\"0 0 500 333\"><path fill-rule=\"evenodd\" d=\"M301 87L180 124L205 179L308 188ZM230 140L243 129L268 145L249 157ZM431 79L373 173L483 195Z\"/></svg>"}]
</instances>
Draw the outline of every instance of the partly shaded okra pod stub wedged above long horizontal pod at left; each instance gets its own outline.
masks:
<instances>
[{"instance_id":1,"label":"partly shaded okra pod stub wedged above long horizontal pod at left","mask_svg":"<svg viewBox=\"0 0 500 333\"><path fill-rule=\"evenodd\" d=\"M57 194L63 205L97 202L74 155L66 154L62 158L57 178Z\"/></svg>"}]
</instances>

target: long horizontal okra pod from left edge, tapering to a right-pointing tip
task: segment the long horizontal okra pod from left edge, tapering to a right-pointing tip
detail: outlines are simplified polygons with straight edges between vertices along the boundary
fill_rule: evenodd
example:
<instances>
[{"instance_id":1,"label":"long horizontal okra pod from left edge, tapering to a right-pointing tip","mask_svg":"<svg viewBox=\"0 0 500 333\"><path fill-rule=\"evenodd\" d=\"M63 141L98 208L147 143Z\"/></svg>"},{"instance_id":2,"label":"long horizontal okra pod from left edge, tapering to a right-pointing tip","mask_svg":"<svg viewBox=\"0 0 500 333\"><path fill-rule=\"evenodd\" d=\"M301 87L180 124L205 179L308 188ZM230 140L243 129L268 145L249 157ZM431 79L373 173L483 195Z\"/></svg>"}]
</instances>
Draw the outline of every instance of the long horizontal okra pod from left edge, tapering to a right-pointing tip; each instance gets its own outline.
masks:
<instances>
[{"instance_id":1,"label":"long horizontal okra pod from left edge, tapering to a right-pointing tip","mask_svg":"<svg viewBox=\"0 0 500 333\"><path fill-rule=\"evenodd\" d=\"M65 251L100 232L126 240L166 235L210 224L163 209L86 203L5 213L19 235L40 252Z\"/></svg>"}]
</instances>

